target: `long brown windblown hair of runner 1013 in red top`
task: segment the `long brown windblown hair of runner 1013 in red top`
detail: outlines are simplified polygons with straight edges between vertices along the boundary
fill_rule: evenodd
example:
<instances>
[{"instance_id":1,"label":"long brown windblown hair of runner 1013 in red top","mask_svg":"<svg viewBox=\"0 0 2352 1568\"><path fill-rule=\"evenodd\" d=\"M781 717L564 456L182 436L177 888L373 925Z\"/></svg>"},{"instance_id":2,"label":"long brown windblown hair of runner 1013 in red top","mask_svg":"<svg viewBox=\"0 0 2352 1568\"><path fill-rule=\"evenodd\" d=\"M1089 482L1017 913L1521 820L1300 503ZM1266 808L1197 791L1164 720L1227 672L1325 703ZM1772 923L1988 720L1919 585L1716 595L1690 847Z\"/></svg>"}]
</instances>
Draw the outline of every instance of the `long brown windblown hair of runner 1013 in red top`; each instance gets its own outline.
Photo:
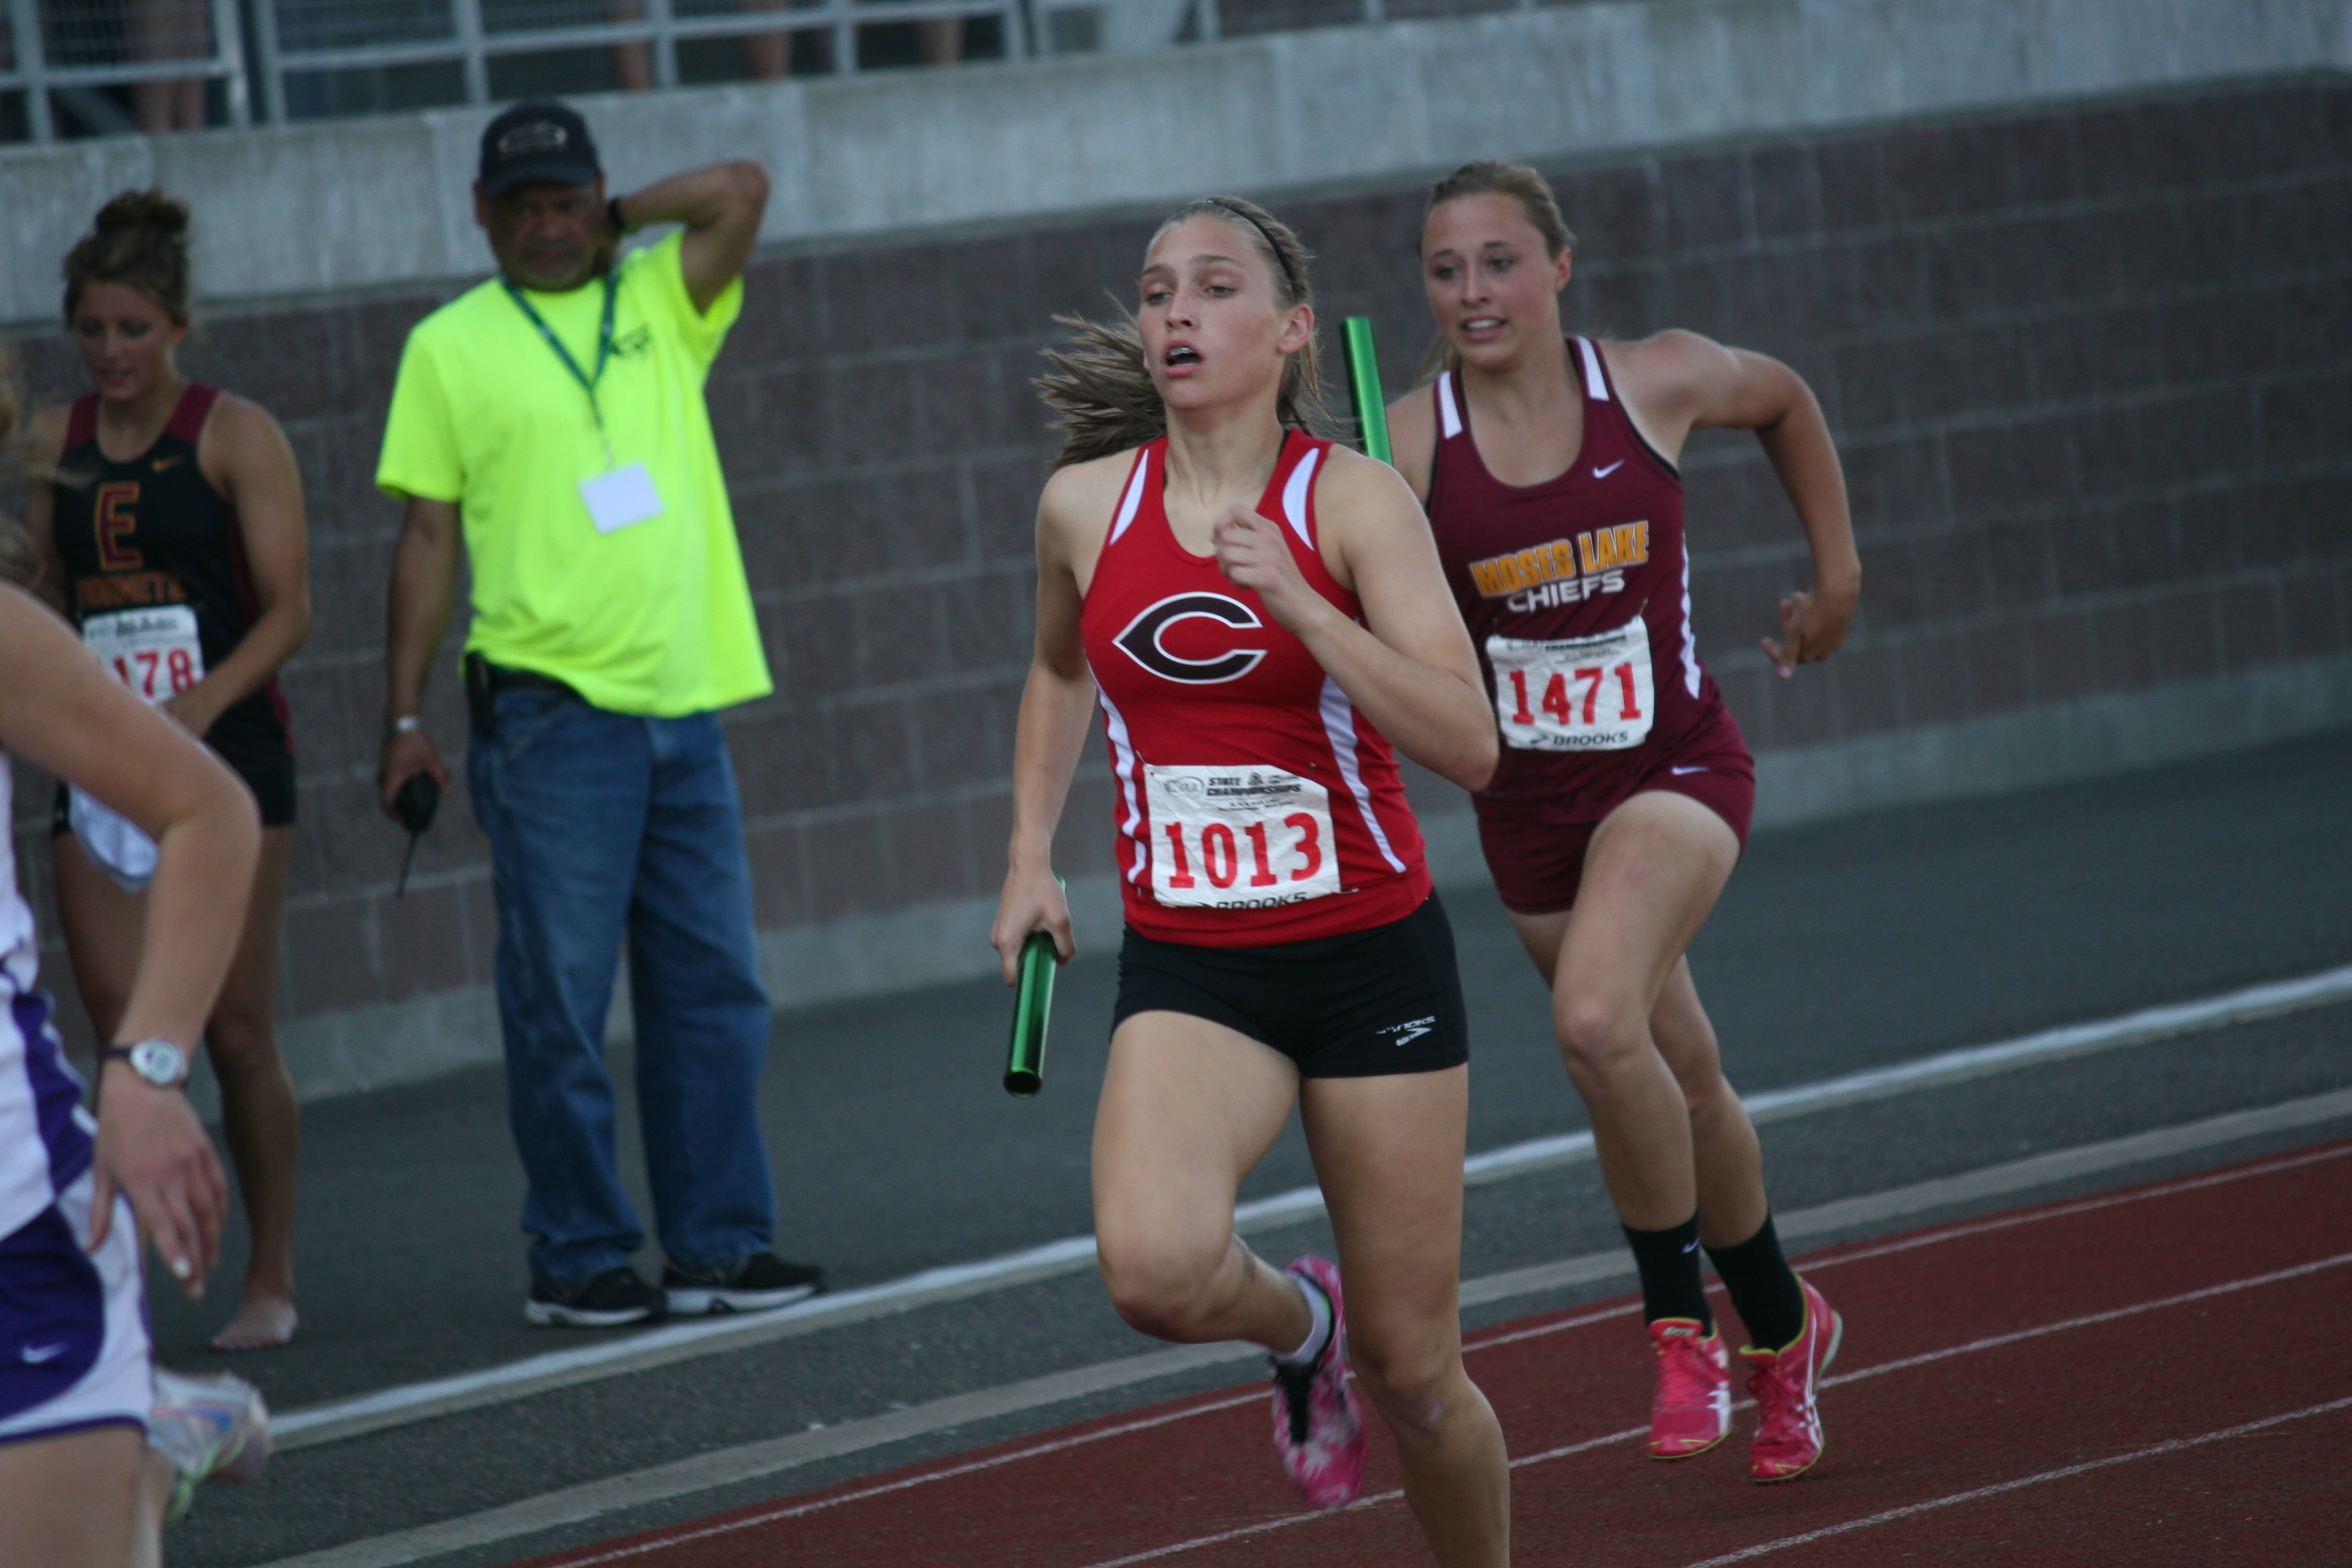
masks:
<instances>
[{"instance_id":1,"label":"long brown windblown hair of runner 1013 in red top","mask_svg":"<svg viewBox=\"0 0 2352 1568\"><path fill-rule=\"evenodd\" d=\"M1256 247L1265 259L1265 270L1275 280L1275 296L1284 308L1315 303L1308 277L1308 263L1312 261L1308 247L1298 242L1289 223L1256 202L1237 195L1204 195L1171 212L1152 233L1152 240L1171 226L1204 214L1223 219ZM1143 334L1136 329L1134 313L1120 306L1117 317L1108 322L1094 322L1082 315L1056 315L1054 322L1070 329L1070 341L1040 350L1047 369L1030 383L1054 411L1054 428L1061 430L1061 451L1054 454L1054 468L1127 451L1129 447L1141 447L1167 435L1169 411L1160 402L1160 388L1152 386L1150 362L1143 357ZM1310 435L1327 435L1331 430L1331 414L1322 402L1312 336L1282 367L1275 418Z\"/></svg>"}]
</instances>

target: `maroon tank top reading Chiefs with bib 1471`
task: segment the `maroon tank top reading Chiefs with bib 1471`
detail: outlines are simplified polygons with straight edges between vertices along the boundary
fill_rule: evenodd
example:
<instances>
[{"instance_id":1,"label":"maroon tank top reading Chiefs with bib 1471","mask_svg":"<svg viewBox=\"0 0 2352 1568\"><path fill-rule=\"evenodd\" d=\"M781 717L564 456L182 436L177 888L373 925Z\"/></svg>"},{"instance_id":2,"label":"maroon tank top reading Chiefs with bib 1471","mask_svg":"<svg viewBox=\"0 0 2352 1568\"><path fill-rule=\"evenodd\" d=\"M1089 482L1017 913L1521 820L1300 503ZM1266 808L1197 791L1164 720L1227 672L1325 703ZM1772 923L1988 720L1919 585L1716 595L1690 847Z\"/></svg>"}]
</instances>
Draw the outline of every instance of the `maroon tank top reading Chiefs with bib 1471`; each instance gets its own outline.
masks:
<instances>
[{"instance_id":1,"label":"maroon tank top reading Chiefs with bib 1471","mask_svg":"<svg viewBox=\"0 0 2352 1568\"><path fill-rule=\"evenodd\" d=\"M1543 484L1486 473L1461 378L1437 378L1430 527L1503 731L1475 804L1578 823L1729 715L1691 635L1682 475L1632 428L1592 339L1569 353L1585 440Z\"/></svg>"}]
</instances>

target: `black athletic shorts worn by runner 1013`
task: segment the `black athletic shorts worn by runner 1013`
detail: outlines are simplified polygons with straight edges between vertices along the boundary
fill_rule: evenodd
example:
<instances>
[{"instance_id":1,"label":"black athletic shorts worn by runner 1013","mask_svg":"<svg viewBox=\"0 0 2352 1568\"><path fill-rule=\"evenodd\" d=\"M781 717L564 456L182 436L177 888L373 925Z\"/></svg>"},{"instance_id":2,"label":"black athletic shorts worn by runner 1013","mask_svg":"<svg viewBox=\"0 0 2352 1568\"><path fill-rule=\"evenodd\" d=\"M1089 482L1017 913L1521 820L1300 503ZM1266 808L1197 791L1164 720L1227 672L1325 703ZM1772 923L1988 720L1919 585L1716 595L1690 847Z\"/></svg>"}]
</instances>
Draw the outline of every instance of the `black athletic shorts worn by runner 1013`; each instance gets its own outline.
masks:
<instances>
[{"instance_id":1,"label":"black athletic shorts worn by runner 1013","mask_svg":"<svg viewBox=\"0 0 2352 1568\"><path fill-rule=\"evenodd\" d=\"M1127 929L1117 1030L1190 1013L1298 1063L1310 1079L1437 1072L1470 1060L1454 926L1430 893L1399 922L1268 947L1190 947Z\"/></svg>"}]
</instances>

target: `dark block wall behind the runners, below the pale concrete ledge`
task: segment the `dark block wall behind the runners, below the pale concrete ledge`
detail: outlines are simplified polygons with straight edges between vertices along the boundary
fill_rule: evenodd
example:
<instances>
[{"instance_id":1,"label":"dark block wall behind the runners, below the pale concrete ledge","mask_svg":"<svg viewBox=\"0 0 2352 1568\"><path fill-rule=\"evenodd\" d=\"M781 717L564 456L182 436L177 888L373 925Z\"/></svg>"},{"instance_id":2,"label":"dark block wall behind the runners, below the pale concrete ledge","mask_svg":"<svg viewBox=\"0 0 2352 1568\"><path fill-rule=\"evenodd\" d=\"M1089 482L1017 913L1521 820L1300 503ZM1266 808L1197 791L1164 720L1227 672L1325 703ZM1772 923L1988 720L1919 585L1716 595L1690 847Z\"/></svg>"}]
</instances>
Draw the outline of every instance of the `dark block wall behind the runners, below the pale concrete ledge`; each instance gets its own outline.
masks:
<instances>
[{"instance_id":1,"label":"dark block wall behind the runners, below the pale concrete ledge","mask_svg":"<svg viewBox=\"0 0 2352 1568\"><path fill-rule=\"evenodd\" d=\"M1557 179L1576 327L1780 355L1839 435L1863 618L1792 684L1755 639L1804 583L1795 517L1752 437L1689 454L1700 646L1759 750L2352 651L2340 78ZM1428 341L1416 181L1277 207L1322 252L1327 320L1374 315L1404 386ZM995 891L1047 454L1025 381L1049 315L1101 310L1145 235L1122 219L753 268L710 404L776 672L729 719L764 926ZM280 414L310 494L292 1018L489 980L468 811L393 903L400 837L369 785L397 527L369 473L402 334L437 299L230 315L186 355ZM24 348L35 390L73 386L56 339ZM430 717L459 748L447 672ZM42 804L19 804L24 849ZM1105 820L1089 759L1065 870L1108 865Z\"/></svg>"}]
</instances>

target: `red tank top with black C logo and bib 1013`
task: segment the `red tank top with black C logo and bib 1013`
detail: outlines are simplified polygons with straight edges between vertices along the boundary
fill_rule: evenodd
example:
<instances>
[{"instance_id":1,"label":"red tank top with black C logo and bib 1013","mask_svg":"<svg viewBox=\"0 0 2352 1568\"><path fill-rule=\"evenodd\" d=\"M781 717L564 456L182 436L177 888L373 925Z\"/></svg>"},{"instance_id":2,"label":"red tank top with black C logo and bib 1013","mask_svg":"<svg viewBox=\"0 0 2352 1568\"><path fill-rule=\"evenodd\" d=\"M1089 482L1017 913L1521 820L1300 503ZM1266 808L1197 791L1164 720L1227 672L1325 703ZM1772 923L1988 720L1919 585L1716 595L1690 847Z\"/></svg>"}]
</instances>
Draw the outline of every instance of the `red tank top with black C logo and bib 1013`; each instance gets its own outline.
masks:
<instances>
[{"instance_id":1,"label":"red tank top with black C logo and bib 1013","mask_svg":"<svg viewBox=\"0 0 2352 1568\"><path fill-rule=\"evenodd\" d=\"M1315 477L1331 442L1282 440L1258 512L1322 597ZM1195 947L1369 931L1430 896L1421 825L1388 741L1256 592L1169 529L1167 440L1136 451L1080 635L1117 778L1127 924Z\"/></svg>"}]
</instances>

